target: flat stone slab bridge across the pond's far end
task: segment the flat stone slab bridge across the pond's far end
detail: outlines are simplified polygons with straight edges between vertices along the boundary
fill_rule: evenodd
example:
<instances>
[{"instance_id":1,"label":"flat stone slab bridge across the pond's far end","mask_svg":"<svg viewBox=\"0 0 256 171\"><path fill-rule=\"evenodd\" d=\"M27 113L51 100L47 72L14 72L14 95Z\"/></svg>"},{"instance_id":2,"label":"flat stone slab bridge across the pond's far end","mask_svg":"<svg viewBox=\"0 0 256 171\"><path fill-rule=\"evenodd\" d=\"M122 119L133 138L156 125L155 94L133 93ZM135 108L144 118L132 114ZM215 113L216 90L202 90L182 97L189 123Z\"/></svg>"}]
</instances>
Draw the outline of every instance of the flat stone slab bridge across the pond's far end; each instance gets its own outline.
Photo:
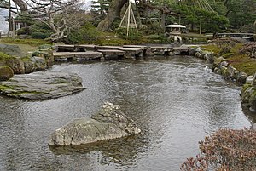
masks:
<instances>
[{"instance_id":1,"label":"flat stone slab bridge across the pond's far end","mask_svg":"<svg viewBox=\"0 0 256 171\"><path fill-rule=\"evenodd\" d=\"M136 59L143 56L170 56L175 54L194 55L195 48L186 45L172 47L171 45L97 46L91 44L61 44L55 45L55 52L53 53L56 61Z\"/></svg>"}]
</instances>

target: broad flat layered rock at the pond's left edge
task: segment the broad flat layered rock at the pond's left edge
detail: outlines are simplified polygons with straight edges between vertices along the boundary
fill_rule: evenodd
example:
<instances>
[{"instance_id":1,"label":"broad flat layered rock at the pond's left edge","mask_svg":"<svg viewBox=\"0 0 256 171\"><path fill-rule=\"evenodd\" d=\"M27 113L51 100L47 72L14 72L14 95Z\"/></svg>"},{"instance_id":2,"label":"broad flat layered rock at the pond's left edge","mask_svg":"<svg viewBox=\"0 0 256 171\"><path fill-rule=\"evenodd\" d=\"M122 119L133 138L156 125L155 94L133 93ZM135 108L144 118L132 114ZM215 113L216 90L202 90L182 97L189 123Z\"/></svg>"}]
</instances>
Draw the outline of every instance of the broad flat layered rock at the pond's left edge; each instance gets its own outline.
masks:
<instances>
[{"instance_id":1,"label":"broad flat layered rock at the pond's left edge","mask_svg":"<svg viewBox=\"0 0 256 171\"><path fill-rule=\"evenodd\" d=\"M38 71L0 82L0 94L32 100L58 98L83 89L82 79L77 74L63 72Z\"/></svg>"}]
</instances>

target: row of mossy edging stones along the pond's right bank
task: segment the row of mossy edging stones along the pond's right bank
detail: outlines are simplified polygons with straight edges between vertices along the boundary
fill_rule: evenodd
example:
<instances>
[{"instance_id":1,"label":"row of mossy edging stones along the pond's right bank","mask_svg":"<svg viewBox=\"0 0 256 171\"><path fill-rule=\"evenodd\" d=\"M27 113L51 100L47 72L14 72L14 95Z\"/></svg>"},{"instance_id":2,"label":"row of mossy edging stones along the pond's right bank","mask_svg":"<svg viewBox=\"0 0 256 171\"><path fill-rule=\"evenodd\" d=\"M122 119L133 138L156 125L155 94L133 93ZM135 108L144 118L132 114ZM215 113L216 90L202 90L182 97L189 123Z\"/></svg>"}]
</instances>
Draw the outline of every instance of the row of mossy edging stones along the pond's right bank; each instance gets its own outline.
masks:
<instances>
[{"instance_id":1,"label":"row of mossy edging stones along the pond's right bank","mask_svg":"<svg viewBox=\"0 0 256 171\"><path fill-rule=\"evenodd\" d=\"M213 53L201 48L195 49L195 57L212 61L212 71L222 75L226 80L242 85L241 103L246 105L250 111L256 111L256 81L253 82L253 76L248 76L243 71L237 71L224 57L217 58Z\"/></svg>"}]
</instances>

